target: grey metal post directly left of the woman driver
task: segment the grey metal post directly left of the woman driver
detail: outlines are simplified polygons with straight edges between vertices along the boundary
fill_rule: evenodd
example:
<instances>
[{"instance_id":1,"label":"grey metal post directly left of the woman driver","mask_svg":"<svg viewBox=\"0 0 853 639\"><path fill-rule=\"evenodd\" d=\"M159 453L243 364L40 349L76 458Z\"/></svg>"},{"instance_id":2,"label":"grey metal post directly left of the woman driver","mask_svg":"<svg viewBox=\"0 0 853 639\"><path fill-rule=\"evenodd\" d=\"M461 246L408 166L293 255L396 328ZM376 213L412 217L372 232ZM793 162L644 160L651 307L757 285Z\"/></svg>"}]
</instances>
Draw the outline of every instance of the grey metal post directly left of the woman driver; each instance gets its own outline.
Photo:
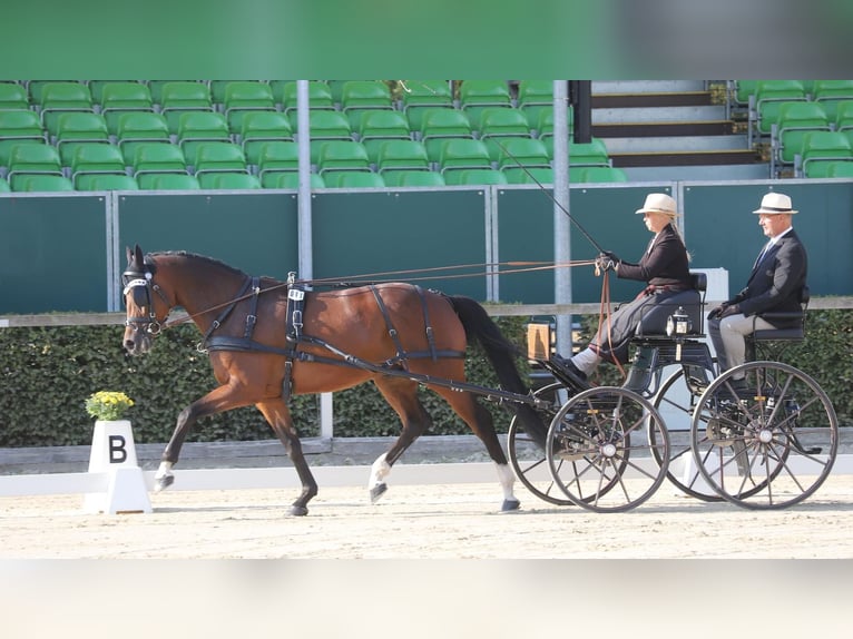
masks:
<instances>
[{"instance_id":1,"label":"grey metal post directly left of the woman driver","mask_svg":"<svg viewBox=\"0 0 853 639\"><path fill-rule=\"evenodd\" d=\"M553 301L571 304L571 220L569 212L569 126L567 80L553 81ZM566 266L560 266L566 265ZM557 352L571 356L571 315L557 316Z\"/></svg>"}]
</instances>

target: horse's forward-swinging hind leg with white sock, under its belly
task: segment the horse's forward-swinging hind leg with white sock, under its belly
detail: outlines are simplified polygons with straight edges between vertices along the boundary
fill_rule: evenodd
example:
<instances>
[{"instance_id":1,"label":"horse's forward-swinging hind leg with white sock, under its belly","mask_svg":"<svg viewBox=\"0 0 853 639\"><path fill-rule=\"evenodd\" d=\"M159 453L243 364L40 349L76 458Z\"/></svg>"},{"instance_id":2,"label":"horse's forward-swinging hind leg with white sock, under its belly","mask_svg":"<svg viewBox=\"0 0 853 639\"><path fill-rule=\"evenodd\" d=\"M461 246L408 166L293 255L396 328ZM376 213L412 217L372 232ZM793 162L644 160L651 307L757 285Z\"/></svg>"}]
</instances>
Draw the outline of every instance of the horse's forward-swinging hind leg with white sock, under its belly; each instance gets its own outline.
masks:
<instances>
[{"instance_id":1,"label":"horse's forward-swinging hind leg with white sock, under its belly","mask_svg":"<svg viewBox=\"0 0 853 639\"><path fill-rule=\"evenodd\" d=\"M385 478L391 472L391 466L412 442L432 425L432 419L418 399L416 382L404 377L379 377L373 382L403 424L403 430L393 445L371 466L367 488L371 501L375 503L388 490Z\"/></svg>"}]
</instances>

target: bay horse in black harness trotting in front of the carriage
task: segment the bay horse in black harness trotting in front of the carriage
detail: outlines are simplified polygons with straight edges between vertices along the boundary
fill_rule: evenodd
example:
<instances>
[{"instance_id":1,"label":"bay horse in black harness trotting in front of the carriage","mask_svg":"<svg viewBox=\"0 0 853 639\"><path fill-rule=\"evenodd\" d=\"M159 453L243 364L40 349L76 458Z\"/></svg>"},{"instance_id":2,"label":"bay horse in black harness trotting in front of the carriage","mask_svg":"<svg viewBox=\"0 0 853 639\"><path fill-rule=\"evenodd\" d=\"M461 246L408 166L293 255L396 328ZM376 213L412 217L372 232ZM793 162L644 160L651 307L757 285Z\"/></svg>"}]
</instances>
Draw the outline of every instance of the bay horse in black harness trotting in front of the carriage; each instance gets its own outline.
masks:
<instances>
[{"instance_id":1,"label":"bay horse in black harness trotting in front of the carriage","mask_svg":"<svg viewBox=\"0 0 853 639\"><path fill-rule=\"evenodd\" d=\"M369 489L375 502L388 488L391 466L431 425L418 399L419 383L423 383L486 445L503 491L501 510L519 508L512 492L514 476L489 411L469 390L430 383L431 379L464 383L465 347L469 340L477 340L502 389L529 393L516 367L514 346L474 299L408 283L310 291L291 281L251 277L219 260L185 252L146 256L138 245L127 248L122 285L128 353L147 352L169 311L183 307L204 335L219 384L178 415L155 475L155 490L175 481L173 466L198 419L255 405L284 444L302 483L291 514L307 514L317 484L287 400L292 394L334 392L373 381L402 422L400 436L371 466ZM508 405L543 443L546 427L532 405Z\"/></svg>"}]
</instances>

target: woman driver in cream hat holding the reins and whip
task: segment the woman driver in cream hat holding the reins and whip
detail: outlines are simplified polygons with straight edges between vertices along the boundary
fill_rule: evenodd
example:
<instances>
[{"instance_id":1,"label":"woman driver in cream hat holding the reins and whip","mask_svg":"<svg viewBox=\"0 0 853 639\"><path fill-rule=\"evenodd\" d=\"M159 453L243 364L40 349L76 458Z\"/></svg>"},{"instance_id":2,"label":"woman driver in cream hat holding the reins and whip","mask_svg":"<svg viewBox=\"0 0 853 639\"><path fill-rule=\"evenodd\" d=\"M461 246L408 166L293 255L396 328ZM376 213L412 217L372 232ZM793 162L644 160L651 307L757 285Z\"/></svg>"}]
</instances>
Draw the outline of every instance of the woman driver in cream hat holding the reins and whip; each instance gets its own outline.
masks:
<instances>
[{"instance_id":1,"label":"woman driver in cream hat holding the reins and whip","mask_svg":"<svg viewBox=\"0 0 853 639\"><path fill-rule=\"evenodd\" d=\"M663 193L649 194L637 214L643 215L646 228L655 234L639 262L622 262L607 252L598 257L597 264L605 269L612 268L620 279L646 282L646 288L633 302L619 306L610 320L599 326L598 334L585 350L570 360L559 355L551 360L580 389L589 387L587 377L602 360L627 363L628 346L638 333L665 334L667 320L679 306L693 326L699 326L702 299L693 287L690 257L676 228L675 199Z\"/></svg>"}]
</instances>

